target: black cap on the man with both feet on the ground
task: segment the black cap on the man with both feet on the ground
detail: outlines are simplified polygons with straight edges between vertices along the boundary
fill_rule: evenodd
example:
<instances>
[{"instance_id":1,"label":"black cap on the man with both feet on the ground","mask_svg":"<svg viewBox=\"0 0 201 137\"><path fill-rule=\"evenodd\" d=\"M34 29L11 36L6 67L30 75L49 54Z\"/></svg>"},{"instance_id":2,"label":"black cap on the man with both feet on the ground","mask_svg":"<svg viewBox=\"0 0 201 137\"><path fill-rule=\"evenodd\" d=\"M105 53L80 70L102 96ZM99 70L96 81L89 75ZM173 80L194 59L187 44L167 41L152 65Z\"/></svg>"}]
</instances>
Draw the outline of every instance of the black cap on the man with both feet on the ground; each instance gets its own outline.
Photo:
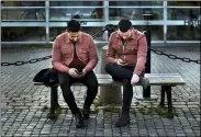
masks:
<instances>
[{"instance_id":1,"label":"black cap on the man with both feet on the ground","mask_svg":"<svg viewBox=\"0 0 201 137\"><path fill-rule=\"evenodd\" d=\"M67 24L67 30L69 32L79 32L80 31L80 23L77 20L70 20Z\"/></svg>"}]
</instances>

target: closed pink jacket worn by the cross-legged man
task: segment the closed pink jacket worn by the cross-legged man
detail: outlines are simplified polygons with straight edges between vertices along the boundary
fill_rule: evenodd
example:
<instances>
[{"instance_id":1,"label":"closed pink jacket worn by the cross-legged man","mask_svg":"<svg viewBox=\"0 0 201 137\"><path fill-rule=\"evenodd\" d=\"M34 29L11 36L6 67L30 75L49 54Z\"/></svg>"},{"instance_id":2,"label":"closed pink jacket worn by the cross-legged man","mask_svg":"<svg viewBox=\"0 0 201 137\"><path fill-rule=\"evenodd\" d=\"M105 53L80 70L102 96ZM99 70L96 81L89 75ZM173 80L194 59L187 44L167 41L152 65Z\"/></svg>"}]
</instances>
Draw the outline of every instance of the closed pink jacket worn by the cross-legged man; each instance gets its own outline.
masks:
<instances>
[{"instance_id":1,"label":"closed pink jacket worn by the cross-legged man","mask_svg":"<svg viewBox=\"0 0 201 137\"><path fill-rule=\"evenodd\" d=\"M145 68L147 56L146 36L137 30L132 30L132 36L123 46L118 32L113 32L109 39L109 47L107 50L107 61L114 62L115 58L121 58L126 61L129 66L135 66L134 72L141 75Z\"/></svg>"}]
</instances>

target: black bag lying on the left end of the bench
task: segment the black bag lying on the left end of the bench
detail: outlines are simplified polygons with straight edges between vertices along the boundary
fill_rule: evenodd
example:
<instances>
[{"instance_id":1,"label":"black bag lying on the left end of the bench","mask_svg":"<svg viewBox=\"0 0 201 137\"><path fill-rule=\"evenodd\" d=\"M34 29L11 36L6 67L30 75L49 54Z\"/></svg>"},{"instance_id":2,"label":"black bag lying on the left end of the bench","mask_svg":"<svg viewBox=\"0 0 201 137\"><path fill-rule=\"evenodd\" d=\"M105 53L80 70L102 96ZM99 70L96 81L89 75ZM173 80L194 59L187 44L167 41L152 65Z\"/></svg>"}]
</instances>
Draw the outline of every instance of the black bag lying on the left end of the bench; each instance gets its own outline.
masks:
<instances>
[{"instance_id":1,"label":"black bag lying on the left end of the bench","mask_svg":"<svg viewBox=\"0 0 201 137\"><path fill-rule=\"evenodd\" d=\"M43 82L46 87L58 84L57 72L53 68L42 69L33 78L34 82Z\"/></svg>"}]
</instances>

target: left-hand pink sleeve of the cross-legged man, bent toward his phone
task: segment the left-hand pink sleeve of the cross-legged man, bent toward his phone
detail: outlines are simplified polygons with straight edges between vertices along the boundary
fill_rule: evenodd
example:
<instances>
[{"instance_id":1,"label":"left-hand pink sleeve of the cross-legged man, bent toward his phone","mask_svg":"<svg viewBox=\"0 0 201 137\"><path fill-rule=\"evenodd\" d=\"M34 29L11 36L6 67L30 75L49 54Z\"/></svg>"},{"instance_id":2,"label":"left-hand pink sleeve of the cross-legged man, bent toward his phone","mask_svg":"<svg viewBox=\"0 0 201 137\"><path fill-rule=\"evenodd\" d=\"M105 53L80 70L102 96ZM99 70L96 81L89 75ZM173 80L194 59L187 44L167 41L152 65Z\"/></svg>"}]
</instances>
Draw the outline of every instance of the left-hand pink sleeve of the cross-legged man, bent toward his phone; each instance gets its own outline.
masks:
<instances>
[{"instance_id":1,"label":"left-hand pink sleeve of the cross-legged man, bent toward his phone","mask_svg":"<svg viewBox=\"0 0 201 137\"><path fill-rule=\"evenodd\" d=\"M108 62L114 62L115 61L115 50L112 47L112 34L109 38L108 49L107 49L107 61Z\"/></svg>"}]
</instances>

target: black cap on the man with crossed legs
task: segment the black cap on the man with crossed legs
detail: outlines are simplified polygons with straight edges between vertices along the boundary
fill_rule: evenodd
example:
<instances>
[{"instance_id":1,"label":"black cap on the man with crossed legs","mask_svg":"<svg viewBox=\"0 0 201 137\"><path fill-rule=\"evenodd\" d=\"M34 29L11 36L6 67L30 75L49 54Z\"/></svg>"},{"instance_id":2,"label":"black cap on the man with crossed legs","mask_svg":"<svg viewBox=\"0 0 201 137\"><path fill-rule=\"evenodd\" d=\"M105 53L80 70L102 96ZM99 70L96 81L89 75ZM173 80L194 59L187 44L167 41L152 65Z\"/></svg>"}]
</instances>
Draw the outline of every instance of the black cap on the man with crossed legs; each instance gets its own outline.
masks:
<instances>
[{"instance_id":1,"label":"black cap on the man with crossed legs","mask_svg":"<svg viewBox=\"0 0 201 137\"><path fill-rule=\"evenodd\" d=\"M119 22L118 27L121 32L127 32L132 27L132 22L127 19L122 19Z\"/></svg>"}]
</instances>

